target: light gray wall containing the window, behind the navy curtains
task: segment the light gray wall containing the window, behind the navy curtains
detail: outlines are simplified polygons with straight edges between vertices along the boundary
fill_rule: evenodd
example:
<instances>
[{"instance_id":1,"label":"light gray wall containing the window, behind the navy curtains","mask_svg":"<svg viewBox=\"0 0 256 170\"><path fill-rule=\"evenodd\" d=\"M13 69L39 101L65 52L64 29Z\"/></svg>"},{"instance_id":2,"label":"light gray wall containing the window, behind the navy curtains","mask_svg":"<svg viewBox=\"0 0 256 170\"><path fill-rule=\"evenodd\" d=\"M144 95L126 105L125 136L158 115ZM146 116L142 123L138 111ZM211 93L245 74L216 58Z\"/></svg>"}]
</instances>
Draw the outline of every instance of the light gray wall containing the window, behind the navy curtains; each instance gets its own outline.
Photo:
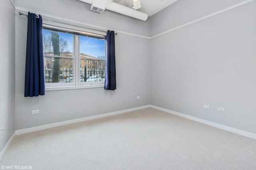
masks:
<instances>
[{"instance_id":1,"label":"light gray wall containing the window, behind the navy curtains","mask_svg":"<svg viewBox=\"0 0 256 170\"><path fill-rule=\"evenodd\" d=\"M150 35L144 22L113 12L92 12L76 0L19 0L16 6L70 20L81 21L138 35ZM16 11L16 130L88 117L150 104L150 40L118 33L116 36L117 89L104 88L46 91L45 96L25 98L27 18ZM136 99L140 96L140 100ZM31 111L40 113L32 115Z\"/></svg>"}]
</instances>

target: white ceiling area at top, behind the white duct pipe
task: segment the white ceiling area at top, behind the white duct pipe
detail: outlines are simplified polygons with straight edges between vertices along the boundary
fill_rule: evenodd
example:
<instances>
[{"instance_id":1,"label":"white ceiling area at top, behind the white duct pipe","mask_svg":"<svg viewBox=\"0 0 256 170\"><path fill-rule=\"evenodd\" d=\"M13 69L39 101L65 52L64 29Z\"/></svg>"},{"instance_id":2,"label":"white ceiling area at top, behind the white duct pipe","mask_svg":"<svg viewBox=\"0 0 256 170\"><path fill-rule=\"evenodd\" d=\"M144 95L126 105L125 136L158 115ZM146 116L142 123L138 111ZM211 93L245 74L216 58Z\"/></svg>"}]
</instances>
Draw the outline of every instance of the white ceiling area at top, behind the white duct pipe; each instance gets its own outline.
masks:
<instances>
[{"instance_id":1,"label":"white ceiling area at top, behind the white duct pipe","mask_svg":"<svg viewBox=\"0 0 256 170\"><path fill-rule=\"evenodd\" d=\"M177 0L140 0L141 8L138 9L138 11L148 14L148 16L152 16L176 1ZM132 0L112 0L112 2L116 2L129 8L133 7Z\"/></svg>"}]
</instances>

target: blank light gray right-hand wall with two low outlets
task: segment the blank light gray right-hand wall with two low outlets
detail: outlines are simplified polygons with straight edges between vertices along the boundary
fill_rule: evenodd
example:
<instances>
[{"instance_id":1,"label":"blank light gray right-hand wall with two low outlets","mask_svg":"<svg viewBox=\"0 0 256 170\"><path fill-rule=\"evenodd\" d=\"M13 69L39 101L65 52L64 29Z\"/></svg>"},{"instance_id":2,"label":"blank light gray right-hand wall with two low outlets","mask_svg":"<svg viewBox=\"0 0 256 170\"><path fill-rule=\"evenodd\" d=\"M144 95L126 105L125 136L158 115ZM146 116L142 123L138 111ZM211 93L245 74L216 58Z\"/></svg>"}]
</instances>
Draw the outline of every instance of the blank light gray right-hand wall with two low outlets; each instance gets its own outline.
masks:
<instances>
[{"instance_id":1,"label":"blank light gray right-hand wall with two low outlets","mask_svg":"<svg viewBox=\"0 0 256 170\"><path fill-rule=\"evenodd\" d=\"M200 2L179 0L152 16L151 35L239 1ZM255 9L250 2L151 39L151 104L256 133Z\"/></svg>"}]
</instances>

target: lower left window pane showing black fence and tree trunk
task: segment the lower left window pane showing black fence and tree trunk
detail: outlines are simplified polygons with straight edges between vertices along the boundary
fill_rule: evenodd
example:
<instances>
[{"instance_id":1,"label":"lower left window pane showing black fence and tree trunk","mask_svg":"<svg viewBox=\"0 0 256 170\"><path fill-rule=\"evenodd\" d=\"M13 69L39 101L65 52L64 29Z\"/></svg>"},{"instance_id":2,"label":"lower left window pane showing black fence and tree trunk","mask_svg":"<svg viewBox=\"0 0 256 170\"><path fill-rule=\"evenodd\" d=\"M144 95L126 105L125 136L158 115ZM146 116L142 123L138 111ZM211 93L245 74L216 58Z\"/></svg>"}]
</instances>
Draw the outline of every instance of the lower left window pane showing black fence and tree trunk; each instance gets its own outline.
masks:
<instances>
[{"instance_id":1,"label":"lower left window pane showing black fence and tree trunk","mask_svg":"<svg viewBox=\"0 0 256 170\"><path fill-rule=\"evenodd\" d=\"M73 59L44 57L44 76L45 83L73 82Z\"/></svg>"}]
</instances>

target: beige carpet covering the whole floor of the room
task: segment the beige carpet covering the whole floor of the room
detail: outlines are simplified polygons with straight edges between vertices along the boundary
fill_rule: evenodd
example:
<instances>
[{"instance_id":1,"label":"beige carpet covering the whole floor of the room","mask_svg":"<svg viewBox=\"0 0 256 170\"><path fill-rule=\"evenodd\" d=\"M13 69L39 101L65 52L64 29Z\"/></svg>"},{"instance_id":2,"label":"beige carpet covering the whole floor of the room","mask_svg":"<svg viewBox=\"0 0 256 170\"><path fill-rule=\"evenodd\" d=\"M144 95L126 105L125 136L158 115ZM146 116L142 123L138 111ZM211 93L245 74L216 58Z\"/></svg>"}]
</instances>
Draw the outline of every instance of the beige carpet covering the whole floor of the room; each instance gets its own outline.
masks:
<instances>
[{"instance_id":1,"label":"beige carpet covering the whole floor of the room","mask_svg":"<svg viewBox=\"0 0 256 170\"><path fill-rule=\"evenodd\" d=\"M256 170L256 140L147 108L18 135L1 166Z\"/></svg>"}]
</instances>

